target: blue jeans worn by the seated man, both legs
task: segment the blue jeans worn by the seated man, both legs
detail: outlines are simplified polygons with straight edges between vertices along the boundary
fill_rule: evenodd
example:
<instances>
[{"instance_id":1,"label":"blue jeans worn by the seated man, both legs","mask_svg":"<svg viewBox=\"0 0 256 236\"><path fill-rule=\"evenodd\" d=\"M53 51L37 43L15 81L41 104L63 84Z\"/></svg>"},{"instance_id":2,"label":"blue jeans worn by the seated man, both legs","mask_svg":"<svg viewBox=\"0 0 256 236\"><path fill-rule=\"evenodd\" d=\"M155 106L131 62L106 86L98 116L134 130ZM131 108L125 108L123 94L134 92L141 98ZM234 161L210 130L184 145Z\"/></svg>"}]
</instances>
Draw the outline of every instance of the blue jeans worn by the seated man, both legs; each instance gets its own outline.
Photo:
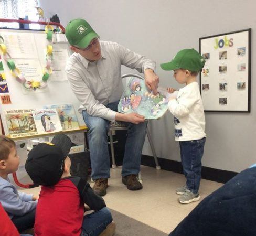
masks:
<instances>
[{"instance_id":1,"label":"blue jeans worn by the seated man, both legs","mask_svg":"<svg viewBox=\"0 0 256 236\"><path fill-rule=\"evenodd\" d=\"M113 111L118 108L118 102L106 105ZM89 148L92 166L92 179L110 177L110 157L108 148L109 121L101 117L91 116L85 110L83 120L89 128ZM141 153L145 141L147 123L127 123L127 138L123 159L122 176L137 175L140 172Z\"/></svg>"}]
</instances>

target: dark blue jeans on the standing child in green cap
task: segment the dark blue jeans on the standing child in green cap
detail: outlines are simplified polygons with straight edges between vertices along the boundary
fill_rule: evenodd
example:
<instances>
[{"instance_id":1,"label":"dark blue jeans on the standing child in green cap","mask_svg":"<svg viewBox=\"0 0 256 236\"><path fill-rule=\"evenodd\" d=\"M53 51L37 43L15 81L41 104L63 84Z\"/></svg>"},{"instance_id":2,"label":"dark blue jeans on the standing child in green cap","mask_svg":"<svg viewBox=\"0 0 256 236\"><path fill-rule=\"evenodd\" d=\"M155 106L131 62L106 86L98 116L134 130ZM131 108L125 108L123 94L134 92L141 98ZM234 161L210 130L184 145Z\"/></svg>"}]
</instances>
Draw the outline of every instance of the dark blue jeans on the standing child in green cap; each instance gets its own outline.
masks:
<instances>
[{"instance_id":1,"label":"dark blue jeans on the standing child in green cap","mask_svg":"<svg viewBox=\"0 0 256 236\"><path fill-rule=\"evenodd\" d=\"M187 179L186 185L194 194L199 191L202 168L202 155L204 154L206 138L201 140L180 141L180 157L182 159L183 173Z\"/></svg>"}]
</instances>

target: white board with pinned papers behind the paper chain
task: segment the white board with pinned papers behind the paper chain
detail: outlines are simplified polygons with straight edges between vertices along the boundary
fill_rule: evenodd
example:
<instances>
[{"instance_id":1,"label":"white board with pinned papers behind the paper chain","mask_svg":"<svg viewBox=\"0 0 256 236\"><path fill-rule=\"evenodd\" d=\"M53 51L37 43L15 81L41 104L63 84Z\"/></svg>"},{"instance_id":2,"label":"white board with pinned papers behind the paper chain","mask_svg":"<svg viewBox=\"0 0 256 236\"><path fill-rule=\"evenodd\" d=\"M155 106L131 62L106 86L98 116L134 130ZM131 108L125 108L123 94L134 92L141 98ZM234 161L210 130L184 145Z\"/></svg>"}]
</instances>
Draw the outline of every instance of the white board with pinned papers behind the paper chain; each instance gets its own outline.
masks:
<instances>
[{"instance_id":1,"label":"white board with pinned papers behind the paper chain","mask_svg":"<svg viewBox=\"0 0 256 236\"><path fill-rule=\"evenodd\" d=\"M47 39L44 30L0 29L0 35L9 55L27 80L42 78L46 66ZM82 115L78 113L80 102L73 94L65 73L70 49L65 35L52 36L52 73L47 85L41 89L28 90L10 72L3 51L0 50L0 115L6 135L9 134L5 111L40 110L47 105L73 104L81 130L86 128Z\"/></svg>"}]
</instances>

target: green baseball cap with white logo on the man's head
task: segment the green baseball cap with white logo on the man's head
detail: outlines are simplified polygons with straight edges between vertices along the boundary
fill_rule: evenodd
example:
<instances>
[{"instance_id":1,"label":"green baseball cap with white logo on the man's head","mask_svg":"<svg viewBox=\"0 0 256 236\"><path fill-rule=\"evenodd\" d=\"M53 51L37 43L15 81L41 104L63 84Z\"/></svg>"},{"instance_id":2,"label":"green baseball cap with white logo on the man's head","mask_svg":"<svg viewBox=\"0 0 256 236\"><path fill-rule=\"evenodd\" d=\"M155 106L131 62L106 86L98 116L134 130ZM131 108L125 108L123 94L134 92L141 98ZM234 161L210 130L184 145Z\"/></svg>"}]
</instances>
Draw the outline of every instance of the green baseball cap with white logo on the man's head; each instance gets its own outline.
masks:
<instances>
[{"instance_id":1,"label":"green baseball cap with white logo on the man's head","mask_svg":"<svg viewBox=\"0 0 256 236\"><path fill-rule=\"evenodd\" d=\"M84 19L71 20L65 29L65 35L69 44L78 48L88 47L92 39L99 37Z\"/></svg>"}]
</instances>

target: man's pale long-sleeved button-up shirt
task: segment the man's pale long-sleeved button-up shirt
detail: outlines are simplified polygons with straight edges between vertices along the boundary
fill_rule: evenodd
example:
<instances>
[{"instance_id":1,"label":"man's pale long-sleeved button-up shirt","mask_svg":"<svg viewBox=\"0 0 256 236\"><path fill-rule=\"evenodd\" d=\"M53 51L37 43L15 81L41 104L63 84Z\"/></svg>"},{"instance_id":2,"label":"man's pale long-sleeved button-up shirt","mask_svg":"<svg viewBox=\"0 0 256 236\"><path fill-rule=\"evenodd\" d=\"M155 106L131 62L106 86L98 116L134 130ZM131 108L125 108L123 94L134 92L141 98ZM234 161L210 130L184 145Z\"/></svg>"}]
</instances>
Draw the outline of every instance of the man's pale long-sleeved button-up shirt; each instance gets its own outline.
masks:
<instances>
[{"instance_id":1,"label":"man's pale long-sleeved button-up shirt","mask_svg":"<svg viewBox=\"0 0 256 236\"><path fill-rule=\"evenodd\" d=\"M123 93L121 65L144 72L155 71L156 63L115 42L100 41L102 58L90 62L73 53L66 65L71 89L81 103L79 112L114 121L116 112L105 105L119 101Z\"/></svg>"}]
</instances>

